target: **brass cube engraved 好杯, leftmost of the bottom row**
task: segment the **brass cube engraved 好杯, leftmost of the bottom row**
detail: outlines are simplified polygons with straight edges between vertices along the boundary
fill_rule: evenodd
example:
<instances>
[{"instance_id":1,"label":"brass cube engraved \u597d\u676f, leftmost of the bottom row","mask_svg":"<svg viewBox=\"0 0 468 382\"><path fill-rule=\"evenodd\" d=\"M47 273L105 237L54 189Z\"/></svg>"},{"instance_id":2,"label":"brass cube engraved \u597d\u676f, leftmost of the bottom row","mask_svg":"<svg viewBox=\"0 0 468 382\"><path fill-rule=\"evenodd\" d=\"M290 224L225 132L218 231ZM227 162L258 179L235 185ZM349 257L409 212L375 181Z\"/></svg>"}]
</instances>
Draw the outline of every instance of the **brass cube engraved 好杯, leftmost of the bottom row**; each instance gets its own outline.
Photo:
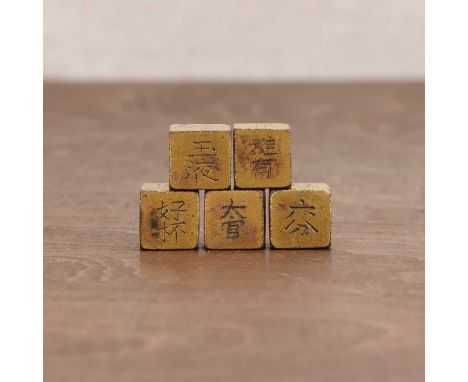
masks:
<instances>
[{"instance_id":1,"label":"brass cube engraved \u597d\u676f, leftmost of the bottom row","mask_svg":"<svg viewBox=\"0 0 468 382\"><path fill-rule=\"evenodd\" d=\"M145 183L140 192L142 249L198 247L198 192L169 191L167 183Z\"/></svg>"}]
</instances>

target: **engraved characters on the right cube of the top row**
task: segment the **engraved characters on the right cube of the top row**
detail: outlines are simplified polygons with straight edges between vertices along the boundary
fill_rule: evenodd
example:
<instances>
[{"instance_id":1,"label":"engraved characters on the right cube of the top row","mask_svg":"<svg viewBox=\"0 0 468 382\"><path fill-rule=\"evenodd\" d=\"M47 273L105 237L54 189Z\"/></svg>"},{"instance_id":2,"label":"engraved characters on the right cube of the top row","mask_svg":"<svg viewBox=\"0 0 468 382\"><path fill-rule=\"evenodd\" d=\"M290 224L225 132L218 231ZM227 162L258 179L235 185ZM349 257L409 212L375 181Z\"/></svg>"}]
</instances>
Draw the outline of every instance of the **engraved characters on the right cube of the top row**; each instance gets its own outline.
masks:
<instances>
[{"instance_id":1,"label":"engraved characters on the right cube of the top row","mask_svg":"<svg viewBox=\"0 0 468 382\"><path fill-rule=\"evenodd\" d=\"M252 161L252 171L255 178L266 177L271 179L272 163L277 161L276 141L275 138L268 136L267 138L256 138L250 142L250 153L255 155Z\"/></svg>"}]
</instances>

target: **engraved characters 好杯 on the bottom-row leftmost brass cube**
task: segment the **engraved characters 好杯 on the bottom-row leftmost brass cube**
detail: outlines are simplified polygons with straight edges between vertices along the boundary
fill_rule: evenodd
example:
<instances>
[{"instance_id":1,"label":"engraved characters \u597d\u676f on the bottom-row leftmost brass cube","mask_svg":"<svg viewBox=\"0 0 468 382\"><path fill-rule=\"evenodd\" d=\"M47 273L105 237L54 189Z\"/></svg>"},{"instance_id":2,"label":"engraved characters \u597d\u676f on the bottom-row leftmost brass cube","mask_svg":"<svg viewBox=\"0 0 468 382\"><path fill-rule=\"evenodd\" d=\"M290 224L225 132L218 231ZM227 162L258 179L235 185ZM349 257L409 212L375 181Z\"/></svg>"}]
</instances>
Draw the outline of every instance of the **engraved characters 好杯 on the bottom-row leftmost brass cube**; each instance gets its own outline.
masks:
<instances>
[{"instance_id":1,"label":"engraved characters \u597d\u676f on the bottom-row leftmost brass cube","mask_svg":"<svg viewBox=\"0 0 468 382\"><path fill-rule=\"evenodd\" d=\"M175 242L179 238L179 233L185 233L183 213L187 211L184 208L185 202L178 200L169 204L161 201L161 206L151 210L150 227L152 236L166 242L174 237ZM171 208L170 208L171 207Z\"/></svg>"}]
</instances>

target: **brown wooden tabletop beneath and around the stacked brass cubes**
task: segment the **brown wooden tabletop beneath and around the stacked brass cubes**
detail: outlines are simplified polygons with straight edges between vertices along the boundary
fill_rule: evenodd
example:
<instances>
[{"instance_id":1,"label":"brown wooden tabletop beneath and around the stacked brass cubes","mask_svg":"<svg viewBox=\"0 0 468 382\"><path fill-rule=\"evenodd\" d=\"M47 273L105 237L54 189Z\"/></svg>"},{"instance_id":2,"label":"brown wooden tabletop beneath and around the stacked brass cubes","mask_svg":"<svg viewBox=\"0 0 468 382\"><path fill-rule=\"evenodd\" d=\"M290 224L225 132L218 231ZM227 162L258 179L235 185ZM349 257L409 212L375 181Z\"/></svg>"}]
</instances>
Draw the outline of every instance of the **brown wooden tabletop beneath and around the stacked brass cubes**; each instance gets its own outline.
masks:
<instances>
[{"instance_id":1,"label":"brown wooden tabletop beneath and around the stacked brass cubes","mask_svg":"<svg viewBox=\"0 0 468 382\"><path fill-rule=\"evenodd\" d=\"M46 381L422 381L424 86L44 88ZM328 250L140 252L170 123L286 122ZM25 365L27 367L27 365Z\"/></svg>"}]
</instances>

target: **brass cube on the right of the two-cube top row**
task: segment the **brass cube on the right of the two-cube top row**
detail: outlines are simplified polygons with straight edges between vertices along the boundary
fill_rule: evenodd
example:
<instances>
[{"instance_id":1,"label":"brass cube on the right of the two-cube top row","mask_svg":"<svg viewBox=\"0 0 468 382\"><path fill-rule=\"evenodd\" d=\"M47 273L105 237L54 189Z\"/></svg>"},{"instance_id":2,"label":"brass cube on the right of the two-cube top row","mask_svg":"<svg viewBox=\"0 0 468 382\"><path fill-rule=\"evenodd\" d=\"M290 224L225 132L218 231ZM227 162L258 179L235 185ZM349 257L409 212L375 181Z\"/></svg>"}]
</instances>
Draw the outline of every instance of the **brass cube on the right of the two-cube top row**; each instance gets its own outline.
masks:
<instances>
[{"instance_id":1,"label":"brass cube on the right of the two-cube top row","mask_svg":"<svg viewBox=\"0 0 468 382\"><path fill-rule=\"evenodd\" d=\"M236 188L285 188L291 185L288 125L234 125L234 182Z\"/></svg>"}]
</instances>

